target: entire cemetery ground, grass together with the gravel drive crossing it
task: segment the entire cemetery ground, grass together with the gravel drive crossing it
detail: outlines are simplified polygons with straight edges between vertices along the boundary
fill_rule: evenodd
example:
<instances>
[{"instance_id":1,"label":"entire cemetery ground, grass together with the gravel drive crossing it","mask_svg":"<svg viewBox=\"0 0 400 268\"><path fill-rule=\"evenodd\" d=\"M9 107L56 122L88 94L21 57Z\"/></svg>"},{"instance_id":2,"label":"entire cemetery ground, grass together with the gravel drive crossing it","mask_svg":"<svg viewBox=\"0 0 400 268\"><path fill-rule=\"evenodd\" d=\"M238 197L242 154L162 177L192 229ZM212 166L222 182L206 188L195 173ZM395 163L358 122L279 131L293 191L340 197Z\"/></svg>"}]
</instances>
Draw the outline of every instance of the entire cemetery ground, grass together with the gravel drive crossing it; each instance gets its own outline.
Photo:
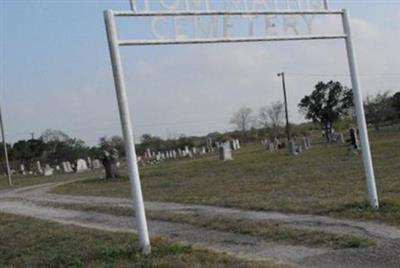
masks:
<instances>
[{"instance_id":1,"label":"entire cemetery ground, grass together with the gravel drive crossing it","mask_svg":"<svg viewBox=\"0 0 400 268\"><path fill-rule=\"evenodd\" d=\"M122 176L110 180L101 169L14 176L15 186L0 186L0 264L308 267L324 264L329 253L335 265L351 267L372 252L377 263L393 260L400 237L400 133L371 131L370 137L379 210L366 200L360 152L316 135L311 149L296 156L249 144L233 151L231 161L210 153L141 167L149 256L132 233L124 163Z\"/></svg>"}]
</instances>

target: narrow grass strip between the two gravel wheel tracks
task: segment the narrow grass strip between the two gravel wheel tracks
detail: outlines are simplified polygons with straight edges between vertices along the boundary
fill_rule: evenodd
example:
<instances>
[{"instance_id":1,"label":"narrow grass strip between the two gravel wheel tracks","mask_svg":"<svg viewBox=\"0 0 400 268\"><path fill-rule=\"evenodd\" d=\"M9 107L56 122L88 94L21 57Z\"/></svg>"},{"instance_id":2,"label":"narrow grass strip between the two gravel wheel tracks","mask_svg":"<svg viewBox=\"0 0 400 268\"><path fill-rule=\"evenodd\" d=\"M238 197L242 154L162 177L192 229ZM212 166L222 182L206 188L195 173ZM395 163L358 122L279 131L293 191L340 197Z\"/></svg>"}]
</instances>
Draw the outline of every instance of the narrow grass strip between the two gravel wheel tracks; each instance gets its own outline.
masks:
<instances>
[{"instance_id":1,"label":"narrow grass strip between the two gravel wheel tracks","mask_svg":"<svg viewBox=\"0 0 400 268\"><path fill-rule=\"evenodd\" d=\"M132 208L116 206L96 206L83 204L44 203L39 205L107 213L116 216L134 216ZM180 213L171 211L147 211L147 217L153 220L184 223L211 230L227 231L237 234L252 235L264 239L289 245L303 245L307 247L323 247L332 249L364 248L375 246L373 240L354 235L337 235L333 233L293 228L272 220L250 220L240 218L208 217L199 213Z\"/></svg>"}]
</instances>

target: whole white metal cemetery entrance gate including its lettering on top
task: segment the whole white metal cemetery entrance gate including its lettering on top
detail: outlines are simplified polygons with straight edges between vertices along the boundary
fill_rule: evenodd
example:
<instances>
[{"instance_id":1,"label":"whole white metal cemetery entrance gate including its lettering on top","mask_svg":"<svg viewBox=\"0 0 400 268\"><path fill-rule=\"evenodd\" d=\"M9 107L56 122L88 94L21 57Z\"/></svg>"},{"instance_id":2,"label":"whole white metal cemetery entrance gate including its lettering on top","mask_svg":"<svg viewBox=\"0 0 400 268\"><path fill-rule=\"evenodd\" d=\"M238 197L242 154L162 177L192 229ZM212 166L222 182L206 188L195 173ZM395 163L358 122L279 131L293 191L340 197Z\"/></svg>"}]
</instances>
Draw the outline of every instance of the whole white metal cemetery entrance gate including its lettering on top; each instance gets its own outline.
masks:
<instances>
[{"instance_id":1,"label":"whole white metal cemetery entrance gate including its lettering on top","mask_svg":"<svg viewBox=\"0 0 400 268\"><path fill-rule=\"evenodd\" d=\"M224 5L221 8L221 3ZM252 3L252 6L250 5ZM157 4L153 9L151 5ZM215 4L216 7L211 5ZM230 9L227 8L230 5ZM144 254L150 253L150 241L147 229L147 221L143 204L142 190L140 184L137 156L133 129L129 113L128 98L125 88L123 68L121 62L120 46L147 46L147 45L178 45L178 44L207 44L207 43L232 43L232 42L267 42L267 41L291 41L291 40L320 40L320 39L342 39L346 44L348 64L350 68L354 105L357 114L357 125L360 131L362 145L362 157L366 175L368 199L370 206L378 208L378 196L375 185L367 124L365 120L361 87L354 47L350 29L350 18L347 10L329 10L327 1L323 0L130 0L130 11L104 11L104 19L110 49L112 71L120 113L125 150L128 163L130 187L133 197L133 204L136 217L136 228L139 235L139 247ZM180 7L183 5L183 7ZM153 6L155 7L155 6ZM261 8L260 8L261 7ZM343 32L335 34L312 34L311 20L307 16L340 16ZM299 34L293 17L302 17L307 22L307 34ZM120 40L117 35L116 17L140 17L152 19L152 39L128 39ZM208 28L204 29L201 19L211 18ZM249 21L248 34L237 36L232 28L238 17L244 17ZM257 17L263 18L263 34L255 33L255 28L260 25L255 22ZM279 35L276 32L276 22L273 19L283 17L283 29L285 34ZM161 23L165 18L172 19L172 28L165 30ZM187 25L180 25L184 19L193 19L192 29L194 34L185 36L181 33L187 30ZM222 21L218 23L218 18ZM291 18L291 19L287 19ZM252 20L252 21L251 21ZM158 28L157 28L158 27ZM218 34L217 28L221 27L222 35ZM164 29L163 34L160 29ZM271 31L273 29L273 31ZM171 35L171 32L174 33ZM288 32L293 35L288 35Z\"/></svg>"}]
</instances>

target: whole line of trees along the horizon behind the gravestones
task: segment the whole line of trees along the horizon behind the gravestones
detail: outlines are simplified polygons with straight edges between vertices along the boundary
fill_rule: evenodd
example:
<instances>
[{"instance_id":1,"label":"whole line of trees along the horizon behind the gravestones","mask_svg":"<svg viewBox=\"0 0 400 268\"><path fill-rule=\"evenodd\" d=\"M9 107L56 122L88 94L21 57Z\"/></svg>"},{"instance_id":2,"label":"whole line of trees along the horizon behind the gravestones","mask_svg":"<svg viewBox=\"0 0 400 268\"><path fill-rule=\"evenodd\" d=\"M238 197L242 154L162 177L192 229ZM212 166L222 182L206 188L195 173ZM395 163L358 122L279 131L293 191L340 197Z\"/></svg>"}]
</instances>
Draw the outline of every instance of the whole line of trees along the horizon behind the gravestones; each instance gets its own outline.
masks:
<instances>
[{"instance_id":1,"label":"whole line of trees along the horizon behind the gravestones","mask_svg":"<svg viewBox=\"0 0 400 268\"><path fill-rule=\"evenodd\" d=\"M329 141L333 127L338 122L354 116L351 90L339 82L319 82L311 94L304 96L298 104L300 112L312 124L291 124L293 136L306 135L308 131L321 129ZM369 96L364 102L367 122L376 130L384 125L400 123L400 92L378 93ZM138 155L151 151L167 151L177 148L200 147L206 145L208 138L213 142L223 142L238 138L242 142L256 142L260 139L285 137L284 104L275 102L261 107L257 113L248 107L240 108L232 116L230 123L235 129L230 132L213 132L206 136L184 136L162 139L143 134L136 145ZM125 156L123 139L120 136L102 137L96 146L87 146L84 141L70 137L60 130L46 130L38 139L19 140L13 145L7 144L9 159L14 168L24 164L27 168L36 161L55 165L63 161L76 161L78 158L99 158L103 150L116 148L121 157ZM3 149L3 148L1 148ZM3 160L3 154L0 154ZM4 162L4 161L2 161Z\"/></svg>"}]
</instances>

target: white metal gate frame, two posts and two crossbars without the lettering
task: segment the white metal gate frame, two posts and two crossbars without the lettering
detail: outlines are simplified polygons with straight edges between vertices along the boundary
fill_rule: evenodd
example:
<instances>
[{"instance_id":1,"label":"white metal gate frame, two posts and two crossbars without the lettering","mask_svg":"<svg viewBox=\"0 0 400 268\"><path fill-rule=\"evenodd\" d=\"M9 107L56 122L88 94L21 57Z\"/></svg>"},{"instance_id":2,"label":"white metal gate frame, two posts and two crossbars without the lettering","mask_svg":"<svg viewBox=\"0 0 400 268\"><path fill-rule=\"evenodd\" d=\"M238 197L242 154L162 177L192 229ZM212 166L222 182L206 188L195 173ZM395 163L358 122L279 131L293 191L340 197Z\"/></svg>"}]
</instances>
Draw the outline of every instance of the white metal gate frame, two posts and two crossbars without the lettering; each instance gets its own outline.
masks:
<instances>
[{"instance_id":1,"label":"white metal gate frame, two posts and two crossbars without the lettering","mask_svg":"<svg viewBox=\"0 0 400 268\"><path fill-rule=\"evenodd\" d=\"M352 91L354 96L354 105L357 115L357 127L360 132L362 146L362 158L366 176L368 200L372 208L379 207L378 195L376 190L374 168L371 157L371 150L368 138L367 123L365 119L363 98L359 81L358 67L353 47L350 17L346 9L328 10L327 2L325 10L275 10L275 11L113 11L105 10L104 19L106 24L108 45L112 71L114 76L115 90L118 101L118 108L122 126L122 133L125 142L126 157L128 163L129 181L135 209L135 223L139 235L139 247L144 254L151 251L150 240L147 228L143 195L140 184L139 169L135 151L135 142L133 137L133 127L130 118L128 97L126 93L123 67L120 55L120 46L147 46L147 45L178 45L178 44L211 44L211 43L238 43L238 42L268 42L268 41L299 41L299 40L323 40L323 39L343 39L346 44L349 71L351 76ZM116 30L116 17L156 17L156 16L235 16L235 15L340 15L343 24L343 34L334 35L307 35L307 36L260 36L260 37L221 37L207 39L171 39L171 40L119 40Z\"/></svg>"}]
</instances>

